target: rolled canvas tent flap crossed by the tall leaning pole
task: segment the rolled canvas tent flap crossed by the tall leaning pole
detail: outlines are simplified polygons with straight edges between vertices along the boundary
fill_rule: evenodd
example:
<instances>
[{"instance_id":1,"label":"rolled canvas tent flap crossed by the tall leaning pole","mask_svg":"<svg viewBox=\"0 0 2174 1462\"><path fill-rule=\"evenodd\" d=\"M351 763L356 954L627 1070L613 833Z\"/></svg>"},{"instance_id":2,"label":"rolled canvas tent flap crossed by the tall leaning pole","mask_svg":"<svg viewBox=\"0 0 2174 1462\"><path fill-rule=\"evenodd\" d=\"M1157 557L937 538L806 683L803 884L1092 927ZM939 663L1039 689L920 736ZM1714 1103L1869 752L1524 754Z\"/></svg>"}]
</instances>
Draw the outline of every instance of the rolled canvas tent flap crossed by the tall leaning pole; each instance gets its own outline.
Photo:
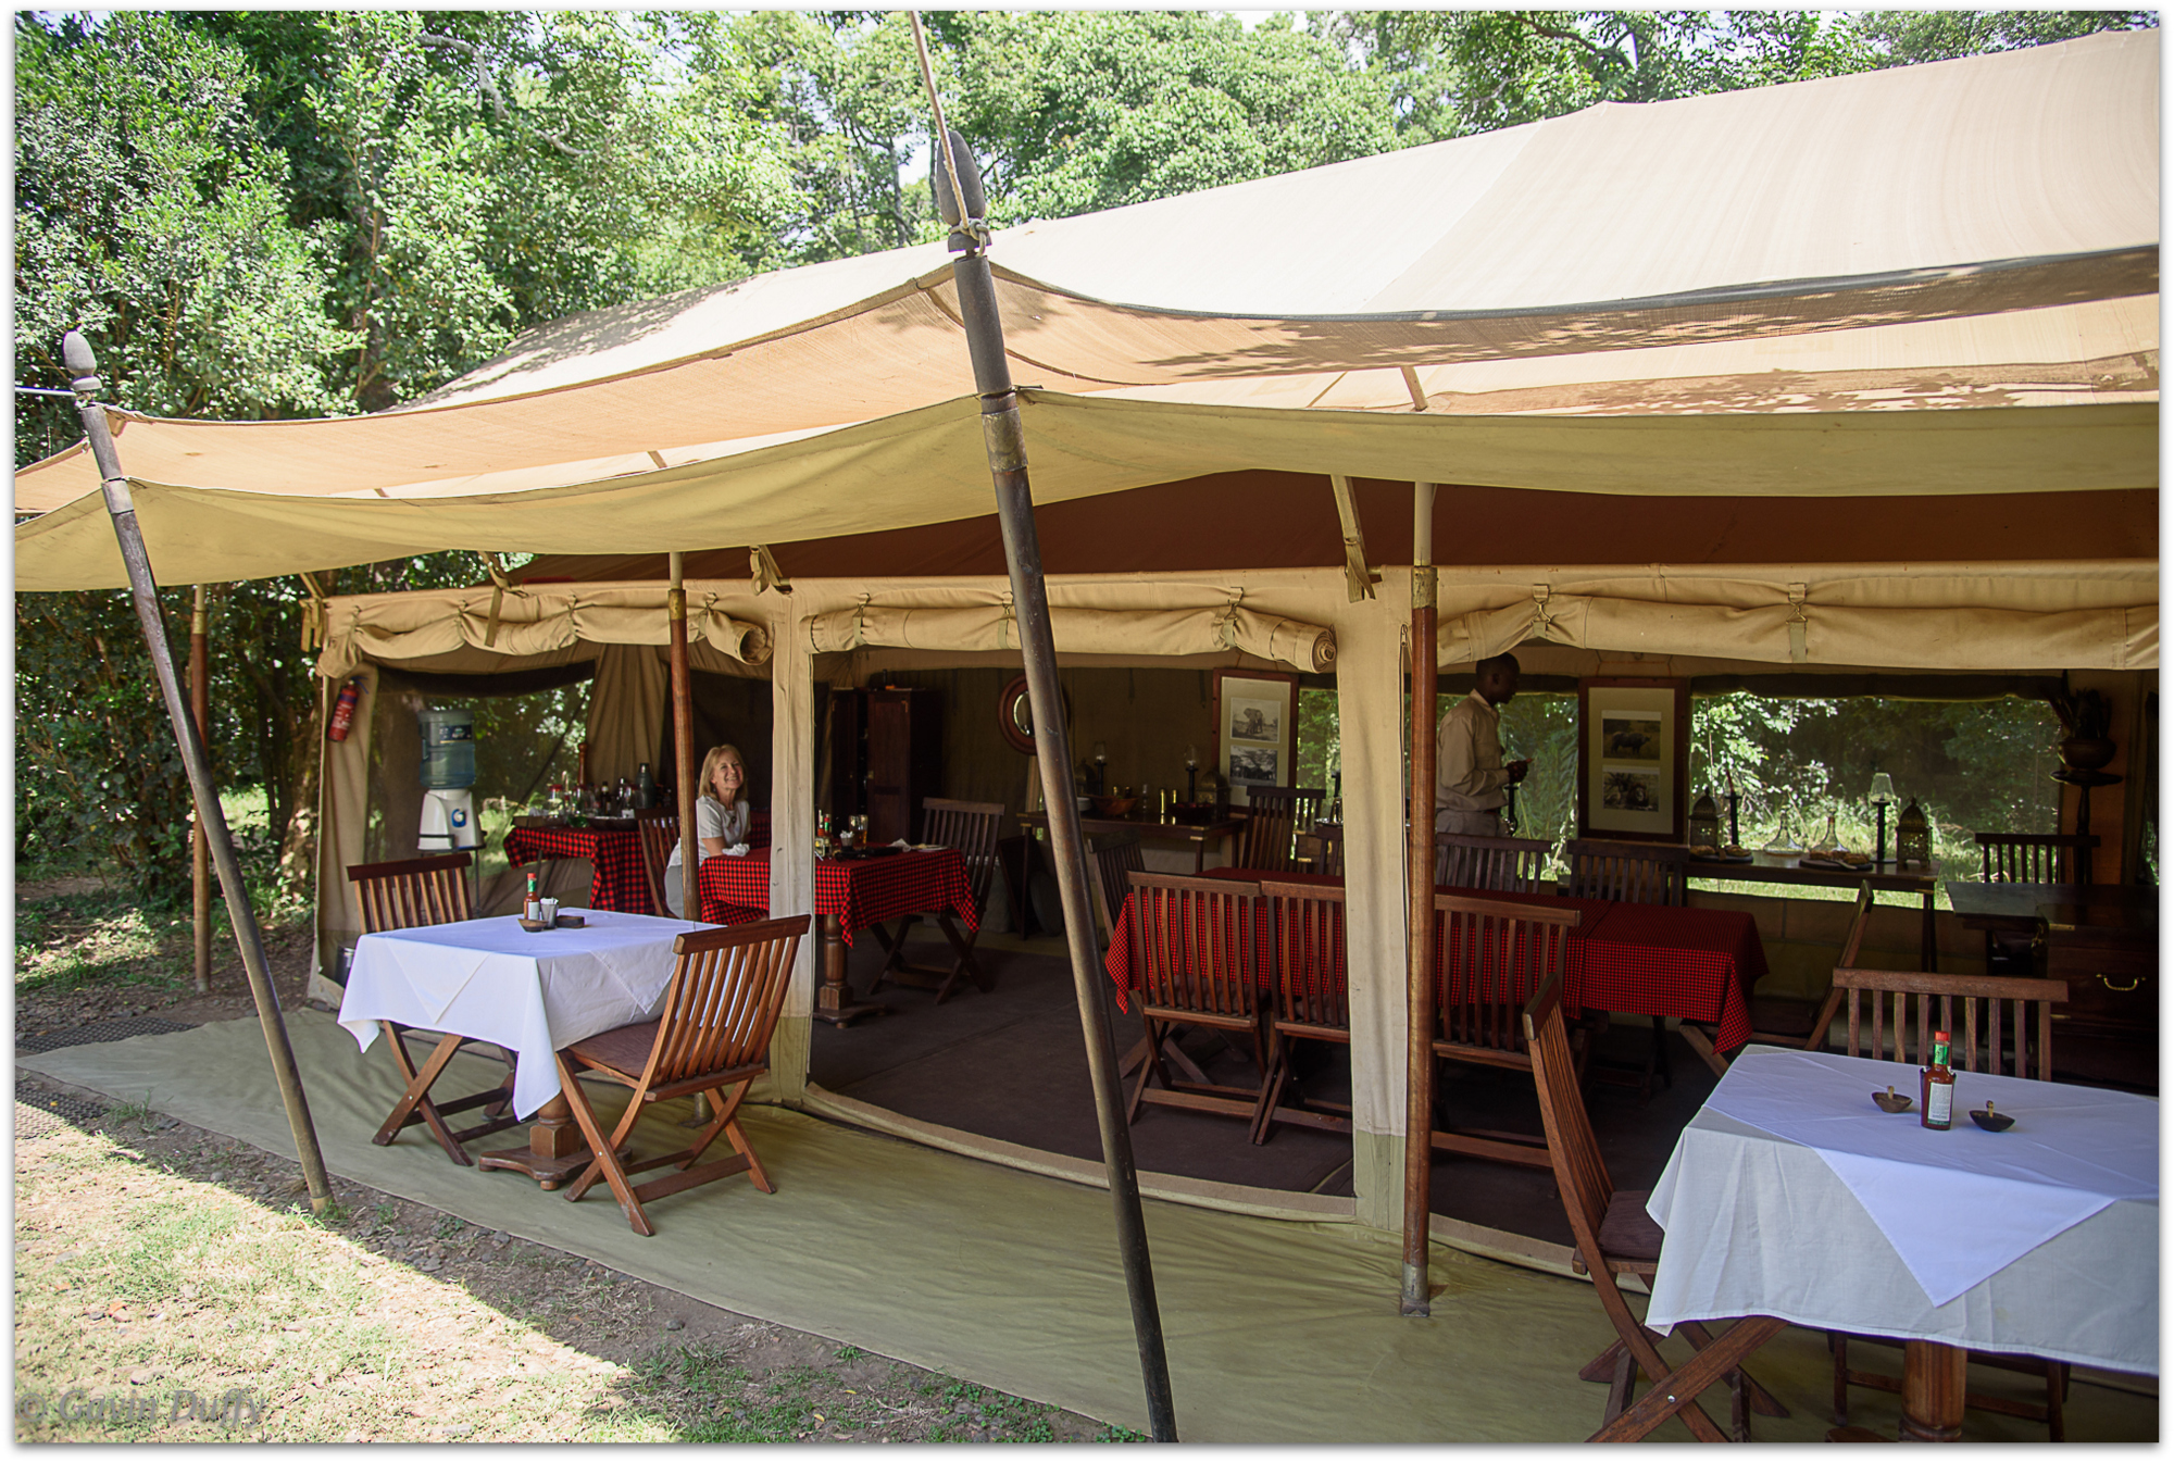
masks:
<instances>
[{"instance_id":1,"label":"rolled canvas tent flap crossed by the tall leaning pole","mask_svg":"<svg viewBox=\"0 0 2174 1462\"><path fill-rule=\"evenodd\" d=\"M1057 653L1074 655L1204 655L1239 651L1294 670L1330 670L1335 631L1241 605L1180 609L1091 609L1050 605ZM809 620L817 655L863 646L911 651L1015 651L1017 622L1009 603L876 605L863 603Z\"/></svg>"}]
</instances>

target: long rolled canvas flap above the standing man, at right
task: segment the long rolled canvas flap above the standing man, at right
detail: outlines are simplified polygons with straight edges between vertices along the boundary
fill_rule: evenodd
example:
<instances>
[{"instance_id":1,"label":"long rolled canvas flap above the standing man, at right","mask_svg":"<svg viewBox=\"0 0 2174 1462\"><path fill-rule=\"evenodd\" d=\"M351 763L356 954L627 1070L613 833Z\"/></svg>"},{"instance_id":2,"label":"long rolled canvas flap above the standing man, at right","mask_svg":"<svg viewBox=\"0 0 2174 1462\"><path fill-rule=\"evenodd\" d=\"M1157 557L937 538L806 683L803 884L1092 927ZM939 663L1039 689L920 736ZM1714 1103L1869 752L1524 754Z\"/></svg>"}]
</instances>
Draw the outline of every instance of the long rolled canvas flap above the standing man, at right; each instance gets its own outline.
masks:
<instances>
[{"instance_id":1,"label":"long rolled canvas flap above the standing man, at right","mask_svg":"<svg viewBox=\"0 0 2174 1462\"><path fill-rule=\"evenodd\" d=\"M1444 585L1439 664L1526 640L1685 655L1911 670L2150 670L2159 664L2154 563L1967 566L1822 579L1663 577L1557 590ZM1796 579L1794 574L1802 574ZM1583 587L1583 585L1580 585ZM1502 600L1509 603L1502 603Z\"/></svg>"}]
</instances>

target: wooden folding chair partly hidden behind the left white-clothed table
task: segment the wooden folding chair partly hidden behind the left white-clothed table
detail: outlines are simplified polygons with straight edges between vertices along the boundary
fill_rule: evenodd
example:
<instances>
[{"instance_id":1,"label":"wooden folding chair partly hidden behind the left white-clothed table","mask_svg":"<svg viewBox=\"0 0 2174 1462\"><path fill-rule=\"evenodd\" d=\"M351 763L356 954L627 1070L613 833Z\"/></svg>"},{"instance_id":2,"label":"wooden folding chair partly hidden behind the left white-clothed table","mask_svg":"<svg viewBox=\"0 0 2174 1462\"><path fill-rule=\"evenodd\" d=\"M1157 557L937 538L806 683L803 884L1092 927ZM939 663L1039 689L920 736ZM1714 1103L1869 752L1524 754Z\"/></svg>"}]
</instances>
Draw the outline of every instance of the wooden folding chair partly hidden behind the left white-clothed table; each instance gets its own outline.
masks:
<instances>
[{"instance_id":1,"label":"wooden folding chair partly hidden behind the left white-clothed table","mask_svg":"<svg viewBox=\"0 0 2174 1462\"><path fill-rule=\"evenodd\" d=\"M363 912L363 933L385 933L387 929L426 929L430 925L452 925L474 916L474 903L467 888L467 868L474 864L472 853L441 853L435 857L409 857L391 864L350 864L348 881L354 885L354 901ZM391 1140L400 1136L402 1129L415 1127L417 1123L430 1129L437 1144L446 1149L446 1155L457 1164L474 1166L463 1142L474 1142L476 1138L487 1138L493 1131L504 1131L507 1127L517 1127L520 1118L513 1116L513 1057L489 1042L470 1040L467 1036L454 1036L450 1031L422 1031L398 1020L378 1020L385 1031L385 1044L393 1053L393 1064L400 1068L402 1092L400 1101L393 1103L391 1114L385 1125L378 1127L376 1136L370 1140L378 1147L391 1147ZM435 1040L430 1055L417 1068L413 1053L407 1049L409 1036L420 1036L424 1040ZM485 1051L493 1060L507 1064L507 1077L498 1086L485 1092L472 1092L467 1096L454 1096L452 1101L433 1101L430 1088L437 1083L446 1064L463 1051ZM454 1131L446 1125L446 1114L470 1112L483 1107L489 1120L476 1123L474 1127L463 1127Z\"/></svg>"}]
</instances>

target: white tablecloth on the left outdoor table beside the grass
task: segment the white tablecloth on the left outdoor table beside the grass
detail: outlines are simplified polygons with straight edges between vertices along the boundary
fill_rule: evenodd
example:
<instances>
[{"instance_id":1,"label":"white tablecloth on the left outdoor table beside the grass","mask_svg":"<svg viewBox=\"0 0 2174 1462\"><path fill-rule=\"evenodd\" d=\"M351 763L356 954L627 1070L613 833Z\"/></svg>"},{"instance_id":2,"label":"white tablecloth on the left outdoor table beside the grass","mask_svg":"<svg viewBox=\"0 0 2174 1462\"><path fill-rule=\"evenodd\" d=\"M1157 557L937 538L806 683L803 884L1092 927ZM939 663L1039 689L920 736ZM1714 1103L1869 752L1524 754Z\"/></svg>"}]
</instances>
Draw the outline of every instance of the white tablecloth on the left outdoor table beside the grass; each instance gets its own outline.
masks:
<instances>
[{"instance_id":1,"label":"white tablecloth on the left outdoor table beside the grass","mask_svg":"<svg viewBox=\"0 0 2174 1462\"><path fill-rule=\"evenodd\" d=\"M378 1020L489 1040L515 1055L513 1110L559 1094L561 1046L657 1016L678 918L585 909L587 929L528 933L511 916L365 933L354 944L339 1025L370 1049Z\"/></svg>"}]
</instances>

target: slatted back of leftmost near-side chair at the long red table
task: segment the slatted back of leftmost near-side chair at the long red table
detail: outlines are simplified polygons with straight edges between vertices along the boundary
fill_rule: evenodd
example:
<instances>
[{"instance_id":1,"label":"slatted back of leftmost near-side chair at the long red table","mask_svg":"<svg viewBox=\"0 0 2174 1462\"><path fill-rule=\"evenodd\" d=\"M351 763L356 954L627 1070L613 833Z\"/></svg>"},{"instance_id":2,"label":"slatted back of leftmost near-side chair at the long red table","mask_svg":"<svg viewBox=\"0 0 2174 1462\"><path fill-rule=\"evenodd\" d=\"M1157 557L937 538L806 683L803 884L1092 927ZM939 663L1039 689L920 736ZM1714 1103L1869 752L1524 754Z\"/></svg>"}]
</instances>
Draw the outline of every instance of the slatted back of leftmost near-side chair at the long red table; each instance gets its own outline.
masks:
<instances>
[{"instance_id":1,"label":"slatted back of leftmost near-side chair at the long red table","mask_svg":"<svg viewBox=\"0 0 2174 1462\"><path fill-rule=\"evenodd\" d=\"M1259 883L1130 872L1133 975L1144 1003L1204 1016L1261 1005Z\"/></svg>"}]
</instances>

